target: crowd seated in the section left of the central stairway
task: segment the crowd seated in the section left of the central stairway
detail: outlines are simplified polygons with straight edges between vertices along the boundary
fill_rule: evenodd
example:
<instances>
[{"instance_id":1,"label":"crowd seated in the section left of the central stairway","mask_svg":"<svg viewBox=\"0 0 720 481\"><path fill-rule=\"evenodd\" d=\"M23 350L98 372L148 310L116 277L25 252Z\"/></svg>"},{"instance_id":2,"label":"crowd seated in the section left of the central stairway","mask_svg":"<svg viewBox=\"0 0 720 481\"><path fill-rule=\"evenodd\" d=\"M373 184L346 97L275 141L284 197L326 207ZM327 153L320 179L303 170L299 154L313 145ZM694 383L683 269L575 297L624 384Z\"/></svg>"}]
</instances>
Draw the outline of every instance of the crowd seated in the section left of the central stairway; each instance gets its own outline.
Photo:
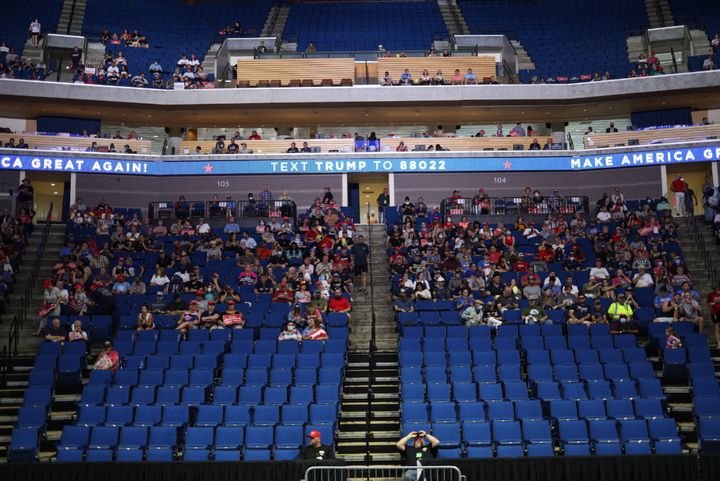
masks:
<instances>
[{"instance_id":1,"label":"crowd seated in the section left of the central stairway","mask_svg":"<svg viewBox=\"0 0 720 481\"><path fill-rule=\"evenodd\" d=\"M272 193L265 186L259 197L263 202ZM327 339L326 314L349 317L353 293L367 288L368 245L354 235L352 219L342 215L329 188L300 225L288 217L260 219L253 232L232 216L222 232L184 216L168 229L161 220L118 214L104 199L88 206L78 198L70 210L71 225L94 226L96 235L69 235L53 278L45 280L36 335L49 341L72 333L56 316L114 314L123 296L153 292L155 302L137 313L137 329L155 329L154 316L167 314L177 316L182 334L240 329L247 312L241 304L265 296L290 306L279 340ZM135 262L140 253L153 254L152 264ZM209 273L205 266L215 260L229 262L237 277ZM76 326L82 331L81 323Z\"/></svg>"}]
</instances>

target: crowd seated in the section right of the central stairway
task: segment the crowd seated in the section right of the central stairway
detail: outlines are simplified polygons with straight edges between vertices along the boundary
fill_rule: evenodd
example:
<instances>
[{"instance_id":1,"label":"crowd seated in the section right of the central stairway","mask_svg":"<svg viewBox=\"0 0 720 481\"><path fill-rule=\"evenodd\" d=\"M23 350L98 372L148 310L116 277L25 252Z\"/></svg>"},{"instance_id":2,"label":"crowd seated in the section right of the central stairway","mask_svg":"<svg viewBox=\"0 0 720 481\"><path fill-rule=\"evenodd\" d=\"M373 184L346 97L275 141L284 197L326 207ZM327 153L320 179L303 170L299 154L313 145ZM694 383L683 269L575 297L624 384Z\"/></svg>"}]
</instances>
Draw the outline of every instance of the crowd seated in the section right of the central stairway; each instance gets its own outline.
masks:
<instances>
[{"instance_id":1,"label":"crowd seated in the section right of the central stairway","mask_svg":"<svg viewBox=\"0 0 720 481\"><path fill-rule=\"evenodd\" d=\"M482 189L478 195L482 203ZM543 196L528 187L523 199L529 206ZM444 300L467 325L499 326L506 310L519 310L524 323L552 323L548 311L559 310L568 324L637 332L634 290L649 288L656 321L690 321L703 330L703 299L678 254L667 201L630 210L616 188L597 201L594 215L550 214L541 225L520 217L512 226L443 218L422 198L406 199L399 210L402 224L387 238L396 312L413 312L420 300ZM586 281L576 285L581 277L573 274L581 272ZM719 301L720 289L706 299L718 344Z\"/></svg>"}]
</instances>

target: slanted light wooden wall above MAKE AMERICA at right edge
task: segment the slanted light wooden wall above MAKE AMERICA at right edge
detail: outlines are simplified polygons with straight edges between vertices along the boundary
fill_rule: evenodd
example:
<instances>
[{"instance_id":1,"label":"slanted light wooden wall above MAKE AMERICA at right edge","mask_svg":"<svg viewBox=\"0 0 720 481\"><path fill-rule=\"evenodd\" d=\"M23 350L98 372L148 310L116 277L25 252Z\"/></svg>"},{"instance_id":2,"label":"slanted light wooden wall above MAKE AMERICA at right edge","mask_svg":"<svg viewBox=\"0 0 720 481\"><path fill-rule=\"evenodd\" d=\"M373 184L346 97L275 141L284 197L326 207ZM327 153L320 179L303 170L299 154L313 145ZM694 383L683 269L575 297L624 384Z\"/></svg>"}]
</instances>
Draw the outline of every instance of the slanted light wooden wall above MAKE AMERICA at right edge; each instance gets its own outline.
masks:
<instances>
[{"instance_id":1,"label":"slanted light wooden wall above MAKE AMERICA at right edge","mask_svg":"<svg viewBox=\"0 0 720 481\"><path fill-rule=\"evenodd\" d=\"M583 137L585 148L619 147L630 145L646 145L650 143L670 143L690 140L705 140L708 137L720 137L720 125L698 125L692 127L676 127L671 129L637 130L632 132L615 132L612 134L595 133ZM592 139L592 142L591 142ZM634 142L637 141L637 144Z\"/></svg>"}]
</instances>

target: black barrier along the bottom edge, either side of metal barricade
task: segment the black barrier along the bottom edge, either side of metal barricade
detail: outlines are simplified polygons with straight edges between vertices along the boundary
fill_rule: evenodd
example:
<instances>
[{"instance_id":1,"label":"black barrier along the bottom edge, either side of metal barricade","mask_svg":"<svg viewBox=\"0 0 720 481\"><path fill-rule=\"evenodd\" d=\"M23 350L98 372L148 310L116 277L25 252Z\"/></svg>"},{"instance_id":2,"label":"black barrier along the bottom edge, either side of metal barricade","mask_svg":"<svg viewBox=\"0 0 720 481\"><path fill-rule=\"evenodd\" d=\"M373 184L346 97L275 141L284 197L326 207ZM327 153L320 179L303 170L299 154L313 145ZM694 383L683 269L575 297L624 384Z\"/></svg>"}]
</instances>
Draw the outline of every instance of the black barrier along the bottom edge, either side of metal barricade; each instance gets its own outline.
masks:
<instances>
[{"instance_id":1,"label":"black barrier along the bottom edge, either side of metal barricade","mask_svg":"<svg viewBox=\"0 0 720 481\"><path fill-rule=\"evenodd\" d=\"M12 481L300 481L310 466L335 462L35 463L0 464ZM437 459L455 466L467 481L717 481L720 454L587 456L508 459ZM327 479L342 480L346 468Z\"/></svg>"}]
</instances>

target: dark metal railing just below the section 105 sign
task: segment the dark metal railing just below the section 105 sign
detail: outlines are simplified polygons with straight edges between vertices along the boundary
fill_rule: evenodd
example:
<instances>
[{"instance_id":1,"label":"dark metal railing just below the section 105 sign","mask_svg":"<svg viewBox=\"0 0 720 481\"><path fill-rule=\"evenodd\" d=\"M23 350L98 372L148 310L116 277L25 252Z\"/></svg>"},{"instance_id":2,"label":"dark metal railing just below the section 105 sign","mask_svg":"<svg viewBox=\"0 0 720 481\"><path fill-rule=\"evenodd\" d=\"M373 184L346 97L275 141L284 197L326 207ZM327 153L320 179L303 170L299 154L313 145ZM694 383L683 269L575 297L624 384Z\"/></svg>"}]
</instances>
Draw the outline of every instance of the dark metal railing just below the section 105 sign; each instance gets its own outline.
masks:
<instances>
[{"instance_id":1,"label":"dark metal railing just below the section 105 sign","mask_svg":"<svg viewBox=\"0 0 720 481\"><path fill-rule=\"evenodd\" d=\"M150 202L148 214L151 220L161 219L265 219L283 218L292 219L297 223L297 206L292 200L271 200L267 204L260 201L226 200L203 201L188 200L178 202Z\"/></svg>"}]
</instances>

